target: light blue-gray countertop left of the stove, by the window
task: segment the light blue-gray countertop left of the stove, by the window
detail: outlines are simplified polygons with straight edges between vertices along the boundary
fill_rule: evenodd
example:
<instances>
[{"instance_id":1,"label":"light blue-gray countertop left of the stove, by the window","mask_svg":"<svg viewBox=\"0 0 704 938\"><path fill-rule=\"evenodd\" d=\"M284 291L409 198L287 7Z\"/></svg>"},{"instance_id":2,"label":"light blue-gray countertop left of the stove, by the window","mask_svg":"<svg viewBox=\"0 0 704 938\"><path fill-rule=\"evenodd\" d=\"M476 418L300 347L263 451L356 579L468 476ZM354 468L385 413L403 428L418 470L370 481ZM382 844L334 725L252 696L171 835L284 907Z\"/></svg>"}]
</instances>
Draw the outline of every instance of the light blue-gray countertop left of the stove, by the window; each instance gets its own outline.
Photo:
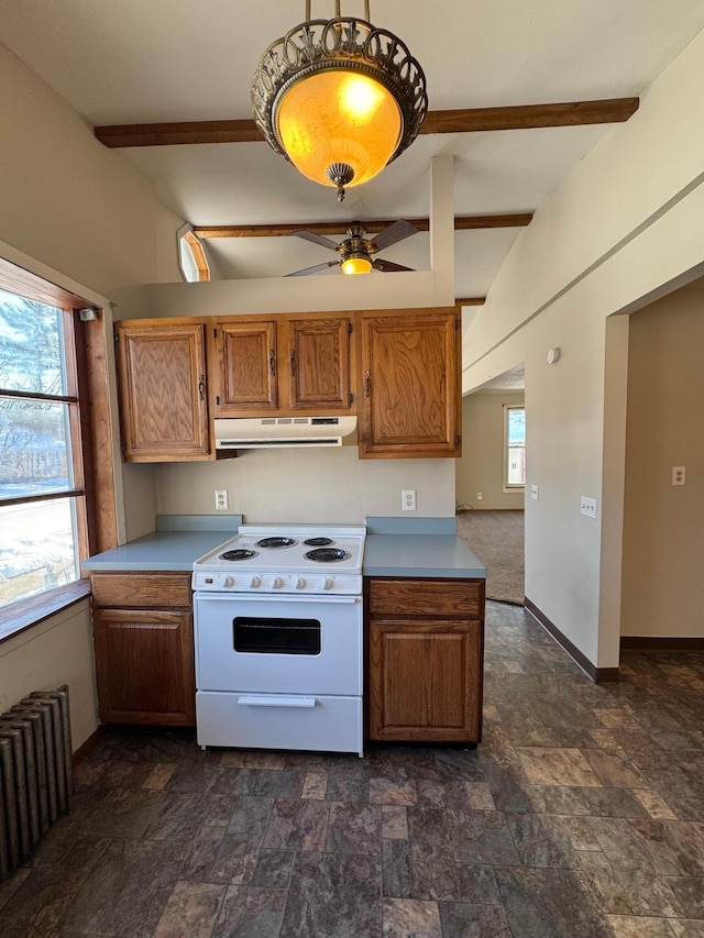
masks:
<instances>
[{"instance_id":1,"label":"light blue-gray countertop left of the stove, by the window","mask_svg":"<svg viewBox=\"0 0 704 938\"><path fill-rule=\"evenodd\" d=\"M193 570L194 561L238 532L241 515L168 515L156 519L157 530L85 560L81 570Z\"/></svg>"}]
</instances>

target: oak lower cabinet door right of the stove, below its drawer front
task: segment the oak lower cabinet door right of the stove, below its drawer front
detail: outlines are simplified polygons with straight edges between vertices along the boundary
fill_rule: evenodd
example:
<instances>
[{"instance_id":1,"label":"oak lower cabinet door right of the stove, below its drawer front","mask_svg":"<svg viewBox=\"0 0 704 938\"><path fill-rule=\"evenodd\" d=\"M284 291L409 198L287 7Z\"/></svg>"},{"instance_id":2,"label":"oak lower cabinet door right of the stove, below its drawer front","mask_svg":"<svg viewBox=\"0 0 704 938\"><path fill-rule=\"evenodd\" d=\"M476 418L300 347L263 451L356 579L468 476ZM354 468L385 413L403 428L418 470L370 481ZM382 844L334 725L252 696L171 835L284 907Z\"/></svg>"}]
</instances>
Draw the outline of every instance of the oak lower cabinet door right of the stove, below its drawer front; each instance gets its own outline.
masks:
<instances>
[{"instance_id":1,"label":"oak lower cabinet door right of the stove, below its drawer front","mask_svg":"<svg viewBox=\"0 0 704 938\"><path fill-rule=\"evenodd\" d=\"M371 739L476 742L481 687L480 622L370 622Z\"/></svg>"}]
</instances>

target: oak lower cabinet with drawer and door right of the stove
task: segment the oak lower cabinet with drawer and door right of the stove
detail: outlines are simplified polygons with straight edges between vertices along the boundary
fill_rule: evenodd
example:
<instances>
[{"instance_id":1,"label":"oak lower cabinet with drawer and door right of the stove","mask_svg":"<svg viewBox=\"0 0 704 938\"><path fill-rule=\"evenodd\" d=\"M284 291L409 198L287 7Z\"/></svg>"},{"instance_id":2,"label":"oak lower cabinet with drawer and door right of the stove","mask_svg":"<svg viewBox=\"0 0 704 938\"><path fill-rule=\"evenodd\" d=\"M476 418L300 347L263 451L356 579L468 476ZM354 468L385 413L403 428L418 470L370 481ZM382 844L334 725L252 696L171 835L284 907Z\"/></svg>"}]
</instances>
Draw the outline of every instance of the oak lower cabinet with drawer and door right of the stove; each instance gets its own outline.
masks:
<instances>
[{"instance_id":1,"label":"oak lower cabinet with drawer and door right of the stove","mask_svg":"<svg viewBox=\"0 0 704 938\"><path fill-rule=\"evenodd\" d=\"M480 742L483 580L365 581L369 737Z\"/></svg>"}]
</instances>

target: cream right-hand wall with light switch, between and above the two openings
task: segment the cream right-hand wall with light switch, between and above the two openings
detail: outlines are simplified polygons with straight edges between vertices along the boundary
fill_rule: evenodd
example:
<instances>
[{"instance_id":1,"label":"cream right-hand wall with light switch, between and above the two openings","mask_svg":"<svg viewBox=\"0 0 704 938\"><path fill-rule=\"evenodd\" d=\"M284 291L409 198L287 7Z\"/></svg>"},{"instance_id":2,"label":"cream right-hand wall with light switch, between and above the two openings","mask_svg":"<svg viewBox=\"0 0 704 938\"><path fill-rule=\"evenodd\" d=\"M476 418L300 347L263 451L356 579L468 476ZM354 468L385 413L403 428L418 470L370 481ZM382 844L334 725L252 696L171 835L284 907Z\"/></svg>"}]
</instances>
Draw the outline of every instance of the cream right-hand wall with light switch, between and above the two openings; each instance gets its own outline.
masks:
<instances>
[{"instance_id":1,"label":"cream right-hand wall with light switch, between and above the two openings","mask_svg":"<svg viewBox=\"0 0 704 938\"><path fill-rule=\"evenodd\" d=\"M464 342L464 391L526 363L527 484L540 486L526 500L526 595L598 667L617 665L620 634L620 570L603 560L620 556L623 531L603 522L603 473L623 470L625 451L625 420L618 431L605 419L624 407L606 317L704 266L703 86L701 34L539 209ZM623 501L618 489L609 478L606 505ZM598 500L596 521L581 495Z\"/></svg>"}]
</instances>

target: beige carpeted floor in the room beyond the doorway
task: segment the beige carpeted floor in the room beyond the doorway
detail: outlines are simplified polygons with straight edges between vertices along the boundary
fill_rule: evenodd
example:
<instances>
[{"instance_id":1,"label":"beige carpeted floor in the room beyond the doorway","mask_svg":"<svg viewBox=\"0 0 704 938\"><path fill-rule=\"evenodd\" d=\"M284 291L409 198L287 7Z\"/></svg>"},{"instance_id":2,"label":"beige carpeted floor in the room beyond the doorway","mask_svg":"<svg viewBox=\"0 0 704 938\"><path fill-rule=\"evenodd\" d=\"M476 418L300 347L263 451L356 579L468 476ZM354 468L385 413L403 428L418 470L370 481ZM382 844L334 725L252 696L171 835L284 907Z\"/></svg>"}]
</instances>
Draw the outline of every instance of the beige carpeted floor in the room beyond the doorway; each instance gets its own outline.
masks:
<instances>
[{"instance_id":1,"label":"beige carpeted floor in the room beyond the doorway","mask_svg":"<svg viewBox=\"0 0 704 938\"><path fill-rule=\"evenodd\" d=\"M486 567L486 598L522 606L522 510L463 511L458 515L458 536Z\"/></svg>"}]
</instances>

